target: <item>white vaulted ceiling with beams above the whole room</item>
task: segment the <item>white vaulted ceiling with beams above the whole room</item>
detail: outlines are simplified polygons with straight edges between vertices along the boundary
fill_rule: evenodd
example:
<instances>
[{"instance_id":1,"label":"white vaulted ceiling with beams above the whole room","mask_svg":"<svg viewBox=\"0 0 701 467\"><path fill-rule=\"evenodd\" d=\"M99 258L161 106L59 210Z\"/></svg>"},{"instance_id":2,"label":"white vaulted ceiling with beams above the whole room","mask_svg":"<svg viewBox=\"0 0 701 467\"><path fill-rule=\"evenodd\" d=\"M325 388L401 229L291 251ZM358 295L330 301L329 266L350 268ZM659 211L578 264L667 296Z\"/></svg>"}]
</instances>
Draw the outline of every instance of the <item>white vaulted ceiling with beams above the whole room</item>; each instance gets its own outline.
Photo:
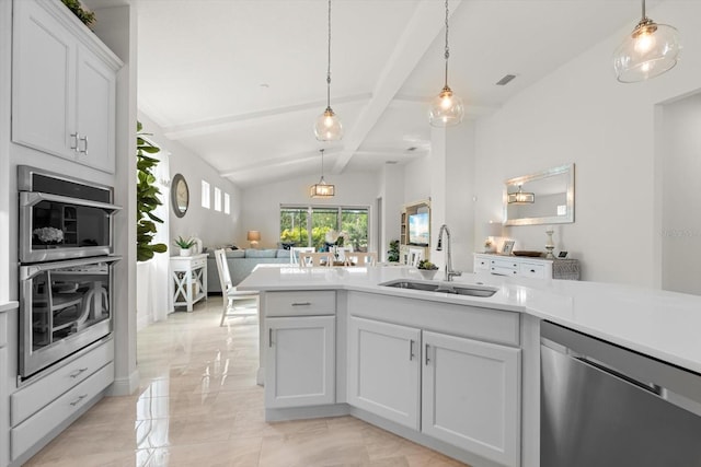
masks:
<instances>
[{"instance_id":1,"label":"white vaulted ceiling with beams above the whole room","mask_svg":"<svg viewBox=\"0 0 701 467\"><path fill-rule=\"evenodd\" d=\"M428 102L444 84L441 0L333 0L331 105L345 129L333 144L312 130L326 98L325 0L85 3L115 1L137 9L139 109L239 186L315 175L320 148L332 174L429 149ZM648 1L650 13L656 3ZM467 119L640 20L639 0L451 0L449 8L449 84ZM509 73L516 79L496 85Z\"/></svg>"}]
</instances>

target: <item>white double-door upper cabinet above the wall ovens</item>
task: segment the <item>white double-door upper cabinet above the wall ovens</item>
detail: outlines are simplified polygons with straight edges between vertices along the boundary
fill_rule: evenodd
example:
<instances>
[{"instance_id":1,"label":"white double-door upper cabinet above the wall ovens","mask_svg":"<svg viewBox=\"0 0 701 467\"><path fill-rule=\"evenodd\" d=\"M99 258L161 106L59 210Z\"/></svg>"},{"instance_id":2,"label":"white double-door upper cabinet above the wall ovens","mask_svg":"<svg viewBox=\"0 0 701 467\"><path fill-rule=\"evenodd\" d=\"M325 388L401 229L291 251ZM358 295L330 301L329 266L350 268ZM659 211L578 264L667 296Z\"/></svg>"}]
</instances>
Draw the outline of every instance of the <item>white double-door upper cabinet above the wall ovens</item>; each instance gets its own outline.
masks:
<instances>
[{"instance_id":1,"label":"white double-door upper cabinet above the wall ovens","mask_svg":"<svg viewBox=\"0 0 701 467\"><path fill-rule=\"evenodd\" d=\"M13 7L12 140L114 173L122 61L60 1Z\"/></svg>"}]
</instances>

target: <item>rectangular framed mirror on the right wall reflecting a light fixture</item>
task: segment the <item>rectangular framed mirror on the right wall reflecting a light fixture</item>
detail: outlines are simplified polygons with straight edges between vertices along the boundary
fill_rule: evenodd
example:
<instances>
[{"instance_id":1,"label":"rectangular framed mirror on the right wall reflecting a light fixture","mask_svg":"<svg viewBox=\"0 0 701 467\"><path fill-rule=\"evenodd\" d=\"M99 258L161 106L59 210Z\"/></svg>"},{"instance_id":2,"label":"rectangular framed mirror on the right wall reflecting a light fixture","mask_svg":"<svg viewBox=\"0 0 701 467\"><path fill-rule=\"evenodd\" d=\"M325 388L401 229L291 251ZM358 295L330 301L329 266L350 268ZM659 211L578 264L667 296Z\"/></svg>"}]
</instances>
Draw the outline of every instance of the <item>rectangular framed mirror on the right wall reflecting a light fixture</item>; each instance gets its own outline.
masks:
<instances>
[{"instance_id":1,"label":"rectangular framed mirror on the right wall reflecting a light fixture","mask_svg":"<svg viewBox=\"0 0 701 467\"><path fill-rule=\"evenodd\" d=\"M574 222L574 164L509 178L504 185L504 225Z\"/></svg>"}]
</instances>

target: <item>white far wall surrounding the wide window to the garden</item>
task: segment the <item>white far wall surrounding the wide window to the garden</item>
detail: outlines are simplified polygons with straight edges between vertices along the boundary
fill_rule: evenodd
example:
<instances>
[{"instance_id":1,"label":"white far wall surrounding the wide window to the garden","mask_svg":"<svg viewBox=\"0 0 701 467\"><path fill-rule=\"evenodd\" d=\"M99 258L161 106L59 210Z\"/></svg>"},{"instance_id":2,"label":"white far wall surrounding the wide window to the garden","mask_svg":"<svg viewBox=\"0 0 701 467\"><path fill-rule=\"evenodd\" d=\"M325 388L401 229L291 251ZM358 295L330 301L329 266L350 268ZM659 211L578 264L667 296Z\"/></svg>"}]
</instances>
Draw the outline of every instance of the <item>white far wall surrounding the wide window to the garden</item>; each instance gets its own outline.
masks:
<instances>
[{"instance_id":1,"label":"white far wall surrounding the wide window to the garden","mask_svg":"<svg viewBox=\"0 0 701 467\"><path fill-rule=\"evenodd\" d=\"M370 222L375 219L375 206L380 196L380 175L376 173L349 173L327 175L326 183L336 187L336 196L331 199L312 199L309 187L319 182L317 174L246 188L242 195L240 235L235 237L239 247L249 247L245 233L261 232L260 248L276 248L279 242L280 205L301 206L367 206ZM389 215L389 214L388 214ZM397 220L399 223L399 218ZM376 229L370 225L371 235ZM369 238L368 249L378 250L377 238ZM382 249L382 248L380 248Z\"/></svg>"}]
</instances>

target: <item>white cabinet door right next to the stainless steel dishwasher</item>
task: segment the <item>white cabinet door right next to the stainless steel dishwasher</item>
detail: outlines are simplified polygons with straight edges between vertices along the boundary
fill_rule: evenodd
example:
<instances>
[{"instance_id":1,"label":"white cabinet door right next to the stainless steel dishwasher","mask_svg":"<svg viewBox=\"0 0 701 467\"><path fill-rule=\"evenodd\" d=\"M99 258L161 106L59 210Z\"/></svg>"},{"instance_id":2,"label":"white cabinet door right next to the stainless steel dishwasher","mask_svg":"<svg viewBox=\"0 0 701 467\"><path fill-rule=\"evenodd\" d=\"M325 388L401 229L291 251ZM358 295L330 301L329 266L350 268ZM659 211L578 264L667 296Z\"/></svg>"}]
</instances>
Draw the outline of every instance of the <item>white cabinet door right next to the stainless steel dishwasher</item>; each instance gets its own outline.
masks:
<instances>
[{"instance_id":1,"label":"white cabinet door right next to the stainless steel dishwasher","mask_svg":"<svg viewBox=\"0 0 701 467\"><path fill-rule=\"evenodd\" d=\"M520 465L520 349L423 332L422 431Z\"/></svg>"}]
</instances>

